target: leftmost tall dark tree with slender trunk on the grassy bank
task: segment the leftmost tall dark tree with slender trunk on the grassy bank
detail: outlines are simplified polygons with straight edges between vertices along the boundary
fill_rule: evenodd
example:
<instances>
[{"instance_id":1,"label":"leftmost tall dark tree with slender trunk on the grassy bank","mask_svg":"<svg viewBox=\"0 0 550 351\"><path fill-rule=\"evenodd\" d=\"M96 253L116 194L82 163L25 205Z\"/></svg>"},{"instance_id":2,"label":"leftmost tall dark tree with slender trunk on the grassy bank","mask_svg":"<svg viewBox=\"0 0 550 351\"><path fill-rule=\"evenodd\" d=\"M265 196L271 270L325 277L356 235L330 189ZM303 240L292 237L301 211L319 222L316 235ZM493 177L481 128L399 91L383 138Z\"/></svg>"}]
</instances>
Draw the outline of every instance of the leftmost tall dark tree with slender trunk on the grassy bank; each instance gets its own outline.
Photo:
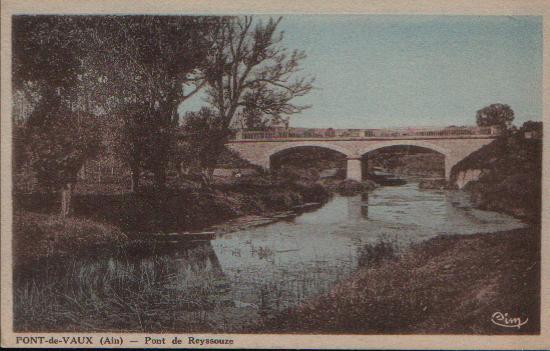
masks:
<instances>
[{"instance_id":1,"label":"leftmost tall dark tree with slender trunk on the grassy bank","mask_svg":"<svg viewBox=\"0 0 550 351\"><path fill-rule=\"evenodd\" d=\"M71 210L76 174L98 151L95 117L79 109L77 85L84 50L83 26L72 16L14 16L13 86L33 105L19 133L44 188L61 191L61 215ZM21 154L21 153L19 153Z\"/></svg>"}]
</instances>

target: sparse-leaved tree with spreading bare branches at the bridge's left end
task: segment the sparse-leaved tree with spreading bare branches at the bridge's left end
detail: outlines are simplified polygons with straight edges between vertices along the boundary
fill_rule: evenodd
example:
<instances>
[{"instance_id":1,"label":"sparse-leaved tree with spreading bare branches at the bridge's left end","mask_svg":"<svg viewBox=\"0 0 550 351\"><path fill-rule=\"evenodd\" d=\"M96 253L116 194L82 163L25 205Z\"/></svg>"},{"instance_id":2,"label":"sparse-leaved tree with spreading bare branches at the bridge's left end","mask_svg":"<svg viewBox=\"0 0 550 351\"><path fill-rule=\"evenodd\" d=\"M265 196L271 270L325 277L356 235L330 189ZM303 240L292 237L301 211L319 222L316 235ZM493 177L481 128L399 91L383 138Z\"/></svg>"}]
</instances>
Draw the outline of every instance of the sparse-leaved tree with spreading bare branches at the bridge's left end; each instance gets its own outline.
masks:
<instances>
[{"instance_id":1,"label":"sparse-leaved tree with spreading bare branches at the bridge's left end","mask_svg":"<svg viewBox=\"0 0 550 351\"><path fill-rule=\"evenodd\" d=\"M256 120L259 116L280 118L309 107L294 103L312 89L313 78L297 76L306 55L283 47L283 33L277 31L280 21L233 17L221 21L219 30L212 32L206 93L224 131L218 139L219 152L236 116L253 113Z\"/></svg>"}]
</instances>

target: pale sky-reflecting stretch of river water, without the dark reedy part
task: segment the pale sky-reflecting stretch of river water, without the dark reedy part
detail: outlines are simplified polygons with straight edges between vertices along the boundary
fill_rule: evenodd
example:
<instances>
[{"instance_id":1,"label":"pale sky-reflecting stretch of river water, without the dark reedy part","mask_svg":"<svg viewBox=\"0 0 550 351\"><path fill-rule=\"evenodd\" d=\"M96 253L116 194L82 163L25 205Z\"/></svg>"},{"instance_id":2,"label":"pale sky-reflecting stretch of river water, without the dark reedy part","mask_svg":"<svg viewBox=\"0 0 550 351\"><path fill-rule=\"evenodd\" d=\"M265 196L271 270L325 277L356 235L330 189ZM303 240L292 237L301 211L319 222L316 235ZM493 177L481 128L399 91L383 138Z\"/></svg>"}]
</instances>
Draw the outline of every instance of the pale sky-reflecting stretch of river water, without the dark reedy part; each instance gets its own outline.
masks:
<instances>
[{"instance_id":1,"label":"pale sky-reflecting stretch of river water, without the dark reedy part","mask_svg":"<svg viewBox=\"0 0 550 351\"><path fill-rule=\"evenodd\" d=\"M292 222L221 235L212 245L236 301L259 304L273 297L276 306L268 301L269 307L287 307L325 292L353 271L357 251L366 243L389 238L404 247L443 233L522 226L507 216L471 210L460 196L420 191L415 184L381 188L370 195L336 197Z\"/></svg>"}]
</instances>

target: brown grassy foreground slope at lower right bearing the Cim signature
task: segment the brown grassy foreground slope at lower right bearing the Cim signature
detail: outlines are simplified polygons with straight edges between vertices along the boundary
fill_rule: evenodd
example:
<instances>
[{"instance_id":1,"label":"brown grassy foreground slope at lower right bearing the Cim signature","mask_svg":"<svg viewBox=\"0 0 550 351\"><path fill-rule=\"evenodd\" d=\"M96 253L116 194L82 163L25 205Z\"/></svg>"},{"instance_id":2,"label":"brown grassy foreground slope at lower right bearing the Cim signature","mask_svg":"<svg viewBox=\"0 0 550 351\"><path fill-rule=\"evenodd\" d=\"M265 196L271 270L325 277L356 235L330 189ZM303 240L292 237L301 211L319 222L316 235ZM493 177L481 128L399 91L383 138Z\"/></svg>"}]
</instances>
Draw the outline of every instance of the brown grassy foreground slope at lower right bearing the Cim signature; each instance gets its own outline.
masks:
<instances>
[{"instance_id":1,"label":"brown grassy foreground slope at lower right bearing the Cim signature","mask_svg":"<svg viewBox=\"0 0 550 351\"><path fill-rule=\"evenodd\" d=\"M436 237L360 268L330 293L267 322L285 333L533 334L539 331L540 229ZM495 312L529 319L518 328Z\"/></svg>"}]
</instances>

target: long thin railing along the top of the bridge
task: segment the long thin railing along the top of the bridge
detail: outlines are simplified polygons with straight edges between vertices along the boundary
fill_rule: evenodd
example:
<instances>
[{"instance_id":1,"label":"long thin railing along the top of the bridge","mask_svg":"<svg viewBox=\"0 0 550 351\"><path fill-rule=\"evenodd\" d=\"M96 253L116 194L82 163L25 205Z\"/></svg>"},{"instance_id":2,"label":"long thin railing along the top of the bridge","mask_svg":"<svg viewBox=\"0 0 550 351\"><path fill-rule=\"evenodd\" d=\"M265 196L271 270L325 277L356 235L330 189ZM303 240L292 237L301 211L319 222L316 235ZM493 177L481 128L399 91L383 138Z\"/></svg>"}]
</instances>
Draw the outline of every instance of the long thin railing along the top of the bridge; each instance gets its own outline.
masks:
<instances>
[{"instance_id":1,"label":"long thin railing along the top of the bridge","mask_svg":"<svg viewBox=\"0 0 550 351\"><path fill-rule=\"evenodd\" d=\"M446 127L446 128L392 128L355 130L293 129L280 131L238 131L234 140L273 140L273 139L348 139L348 138L406 138L406 137L449 137L449 136L495 136L498 127Z\"/></svg>"}]
</instances>

